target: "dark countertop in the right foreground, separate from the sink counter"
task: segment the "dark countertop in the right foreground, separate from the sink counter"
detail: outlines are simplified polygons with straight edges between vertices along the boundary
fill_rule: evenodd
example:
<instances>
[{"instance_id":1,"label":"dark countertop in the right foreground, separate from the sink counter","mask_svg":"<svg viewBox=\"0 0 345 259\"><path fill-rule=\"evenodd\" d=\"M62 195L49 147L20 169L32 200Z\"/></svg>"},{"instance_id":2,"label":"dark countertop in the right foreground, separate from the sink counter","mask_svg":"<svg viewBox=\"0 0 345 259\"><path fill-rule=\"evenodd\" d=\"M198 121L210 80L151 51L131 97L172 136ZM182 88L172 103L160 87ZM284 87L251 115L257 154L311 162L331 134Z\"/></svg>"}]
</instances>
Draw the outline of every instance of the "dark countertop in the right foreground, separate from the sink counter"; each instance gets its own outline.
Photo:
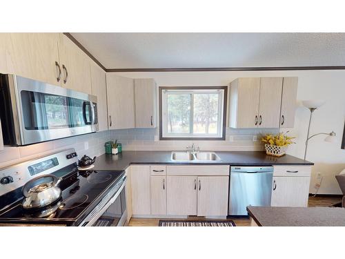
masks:
<instances>
[{"instance_id":1,"label":"dark countertop in the right foreground, separate from the sink counter","mask_svg":"<svg viewBox=\"0 0 345 259\"><path fill-rule=\"evenodd\" d=\"M261 227L345 227L345 208L247 207Z\"/></svg>"}]
</instances>

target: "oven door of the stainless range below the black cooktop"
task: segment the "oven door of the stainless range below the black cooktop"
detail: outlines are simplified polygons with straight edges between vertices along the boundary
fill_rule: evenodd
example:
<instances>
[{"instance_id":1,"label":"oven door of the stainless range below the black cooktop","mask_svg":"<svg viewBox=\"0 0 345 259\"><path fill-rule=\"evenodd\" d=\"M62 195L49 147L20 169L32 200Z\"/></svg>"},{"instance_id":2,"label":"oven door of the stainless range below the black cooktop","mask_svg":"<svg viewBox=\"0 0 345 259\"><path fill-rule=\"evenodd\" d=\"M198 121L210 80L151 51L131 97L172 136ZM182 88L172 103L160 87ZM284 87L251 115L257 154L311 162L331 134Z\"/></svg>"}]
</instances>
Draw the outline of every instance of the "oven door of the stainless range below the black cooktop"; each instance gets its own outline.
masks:
<instances>
[{"instance_id":1,"label":"oven door of the stainless range below the black cooktop","mask_svg":"<svg viewBox=\"0 0 345 259\"><path fill-rule=\"evenodd\" d=\"M115 193L110 191L112 198L107 198L107 196L110 195L110 193L108 193L79 226L121 227L126 224L127 207L126 192L124 188L124 186L126 186L126 176L121 179L117 186L119 186L119 188L115 187L115 189L117 189Z\"/></svg>"}]
</instances>

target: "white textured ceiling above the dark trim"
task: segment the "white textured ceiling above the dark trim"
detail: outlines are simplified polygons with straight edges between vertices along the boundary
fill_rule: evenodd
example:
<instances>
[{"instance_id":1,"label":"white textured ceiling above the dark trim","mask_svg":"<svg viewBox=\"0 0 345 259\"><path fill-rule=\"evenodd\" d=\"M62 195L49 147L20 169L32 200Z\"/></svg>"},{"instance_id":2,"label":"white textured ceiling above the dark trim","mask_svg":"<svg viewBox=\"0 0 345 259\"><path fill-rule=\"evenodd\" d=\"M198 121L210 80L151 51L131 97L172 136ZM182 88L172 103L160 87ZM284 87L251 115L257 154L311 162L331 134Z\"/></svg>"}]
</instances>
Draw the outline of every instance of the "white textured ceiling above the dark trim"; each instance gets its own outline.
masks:
<instances>
[{"instance_id":1,"label":"white textured ceiling above the dark trim","mask_svg":"<svg viewBox=\"0 0 345 259\"><path fill-rule=\"evenodd\" d=\"M345 66L345 33L72 33L106 68Z\"/></svg>"}]
</instances>

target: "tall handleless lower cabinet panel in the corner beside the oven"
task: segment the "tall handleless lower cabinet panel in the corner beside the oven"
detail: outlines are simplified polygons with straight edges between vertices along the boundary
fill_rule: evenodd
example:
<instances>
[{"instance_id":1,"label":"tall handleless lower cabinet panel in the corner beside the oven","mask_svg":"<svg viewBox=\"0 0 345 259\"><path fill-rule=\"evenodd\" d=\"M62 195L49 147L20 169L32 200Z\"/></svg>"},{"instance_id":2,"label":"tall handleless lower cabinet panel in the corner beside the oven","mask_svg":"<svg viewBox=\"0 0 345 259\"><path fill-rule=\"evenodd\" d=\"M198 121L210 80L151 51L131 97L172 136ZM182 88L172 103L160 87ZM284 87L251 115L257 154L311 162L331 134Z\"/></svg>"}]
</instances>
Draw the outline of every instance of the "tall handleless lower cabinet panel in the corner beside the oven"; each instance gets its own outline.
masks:
<instances>
[{"instance_id":1,"label":"tall handleless lower cabinet panel in the corner beside the oven","mask_svg":"<svg viewBox=\"0 0 345 259\"><path fill-rule=\"evenodd\" d=\"M132 214L150 215L150 166L130 166Z\"/></svg>"}]
</instances>

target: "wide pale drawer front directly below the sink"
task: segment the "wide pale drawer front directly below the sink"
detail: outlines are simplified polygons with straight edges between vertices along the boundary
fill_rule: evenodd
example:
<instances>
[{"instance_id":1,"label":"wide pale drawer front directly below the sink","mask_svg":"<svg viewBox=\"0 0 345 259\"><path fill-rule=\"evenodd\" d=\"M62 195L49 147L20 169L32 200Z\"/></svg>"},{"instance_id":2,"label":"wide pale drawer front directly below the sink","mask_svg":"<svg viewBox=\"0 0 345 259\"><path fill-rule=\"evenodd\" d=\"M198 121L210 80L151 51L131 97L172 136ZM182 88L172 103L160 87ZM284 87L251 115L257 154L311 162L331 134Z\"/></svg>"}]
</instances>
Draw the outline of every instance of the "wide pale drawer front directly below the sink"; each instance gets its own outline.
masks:
<instances>
[{"instance_id":1,"label":"wide pale drawer front directly below the sink","mask_svg":"<svg viewBox=\"0 0 345 259\"><path fill-rule=\"evenodd\" d=\"M166 166L167 175L229 175L230 166Z\"/></svg>"}]
</instances>

